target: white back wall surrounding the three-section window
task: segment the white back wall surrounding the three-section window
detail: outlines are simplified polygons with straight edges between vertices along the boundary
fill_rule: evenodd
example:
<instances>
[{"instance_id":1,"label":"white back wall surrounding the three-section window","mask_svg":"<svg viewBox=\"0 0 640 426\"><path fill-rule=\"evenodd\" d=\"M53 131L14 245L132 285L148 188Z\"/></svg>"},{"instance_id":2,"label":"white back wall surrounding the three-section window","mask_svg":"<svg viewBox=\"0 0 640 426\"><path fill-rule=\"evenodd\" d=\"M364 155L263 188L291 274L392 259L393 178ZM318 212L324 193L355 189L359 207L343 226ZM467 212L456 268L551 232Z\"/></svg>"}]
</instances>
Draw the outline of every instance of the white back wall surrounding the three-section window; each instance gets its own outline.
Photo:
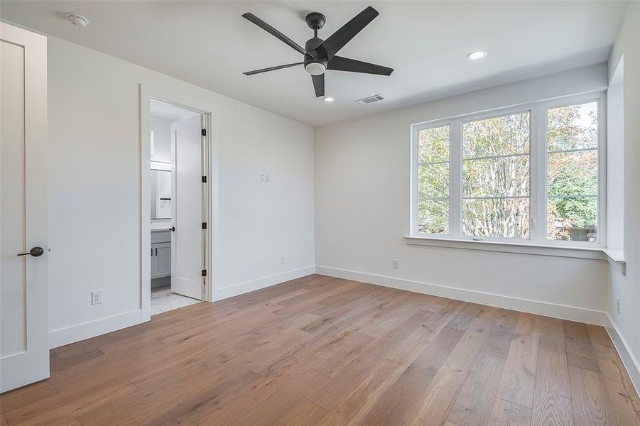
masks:
<instances>
[{"instance_id":1,"label":"white back wall surrounding the three-section window","mask_svg":"<svg viewBox=\"0 0 640 426\"><path fill-rule=\"evenodd\" d=\"M411 124L606 86L607 66L595 65L316 129L318 272L603 324L605 261L408 246L403 236Z\"/></svg>"}]
</instances>

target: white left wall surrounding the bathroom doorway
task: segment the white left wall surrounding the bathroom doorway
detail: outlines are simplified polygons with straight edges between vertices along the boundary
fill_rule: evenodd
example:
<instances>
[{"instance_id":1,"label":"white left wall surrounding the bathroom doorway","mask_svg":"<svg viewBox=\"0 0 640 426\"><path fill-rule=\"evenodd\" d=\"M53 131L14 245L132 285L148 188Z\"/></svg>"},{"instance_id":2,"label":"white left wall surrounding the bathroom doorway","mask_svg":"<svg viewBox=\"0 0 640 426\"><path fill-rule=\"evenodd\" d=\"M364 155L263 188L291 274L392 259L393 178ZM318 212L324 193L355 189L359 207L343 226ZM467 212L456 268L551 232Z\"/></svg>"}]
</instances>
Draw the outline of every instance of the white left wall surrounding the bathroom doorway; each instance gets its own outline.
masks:
<instances>
[{"instance_id":1,"label":"white left wall surrounding the bathroom doorway","mask_svg":"<svg viewBox=\"0 0 640 426\"><path fill-rule=\"evenodd\" d=\"M313 129L48 40L51 346L141 321L141 258L148 258L141 253L139 84L212 112L220 227L213 296L313 271ZM261 170L269 171L268 184ZM102 305L91 305L92 290L102 290Z\"/></svg>"}]
</instances>

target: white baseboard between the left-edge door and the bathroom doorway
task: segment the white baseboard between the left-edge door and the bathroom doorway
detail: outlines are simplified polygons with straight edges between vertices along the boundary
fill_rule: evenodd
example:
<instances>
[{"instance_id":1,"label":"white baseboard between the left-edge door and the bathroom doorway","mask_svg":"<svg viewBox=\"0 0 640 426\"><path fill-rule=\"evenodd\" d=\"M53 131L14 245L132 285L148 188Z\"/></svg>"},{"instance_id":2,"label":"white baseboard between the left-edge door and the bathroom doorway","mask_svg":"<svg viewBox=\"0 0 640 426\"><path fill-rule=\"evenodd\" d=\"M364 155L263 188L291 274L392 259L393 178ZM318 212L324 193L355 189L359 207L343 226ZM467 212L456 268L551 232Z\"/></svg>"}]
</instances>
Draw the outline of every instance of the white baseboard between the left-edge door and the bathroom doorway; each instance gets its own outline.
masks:
<instances>
[{"instance_id":1,"label":"white baseboard between the left-edge door and the bathroom doorway","mask_svg":"<svg viewBox=\"0 0 640 426\"><path fill-rule=\"evenodd\" d=\"M144 322L142 310L136 309L112 317L99 318L97 320L83 322L49 332L49 349L64 346L65 344L80 342L80 340L90 339L114 332L119 329L131 327L132 325Z\"/></svg>"}]
</instances>

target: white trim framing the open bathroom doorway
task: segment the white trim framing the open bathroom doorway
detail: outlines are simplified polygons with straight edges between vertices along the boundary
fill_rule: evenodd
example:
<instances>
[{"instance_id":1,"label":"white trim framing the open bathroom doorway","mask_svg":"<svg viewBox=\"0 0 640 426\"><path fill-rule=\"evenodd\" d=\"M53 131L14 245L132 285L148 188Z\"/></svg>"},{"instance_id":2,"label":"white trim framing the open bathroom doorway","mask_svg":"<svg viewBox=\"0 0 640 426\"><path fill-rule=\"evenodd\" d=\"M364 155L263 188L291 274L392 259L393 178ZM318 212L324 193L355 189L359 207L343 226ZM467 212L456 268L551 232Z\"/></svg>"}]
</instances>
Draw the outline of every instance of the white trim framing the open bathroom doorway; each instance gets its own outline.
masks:
<instances>
[{"instance_id":1,"label":"white trim framing the open bathroom doorway","mask_svg":"<svg viewBox=\"0 0 640 426\"><path fill-rule=\"evenodd\" d=\"M190 111L202 114L207 136L204 136L204 150L202 152L203 172L207 176L207 185L202 192L203 213L205 214L207 230L205 231L204 244L204 265L207 269L205 277L203 302L212 302L212 288L217 274L213 273L213 268L217 269L214 263L215 246L212 244L212 236L218 233L217 217L217 150L215 149L214 137L215 127L213 126L214 115L207 110L202 101L197 97L189 96L181 91L175 92L167 87L152 86L150 84L139 84L140 95L140 195L141 195L141 215L140 215L140 307L142 310L142 320L151 320L151 262L148 258L148 248L151 246L151 136L150 136L150 102L151 100L166 102L176 107L189 109Z\"/></svg>"}]
</instances>

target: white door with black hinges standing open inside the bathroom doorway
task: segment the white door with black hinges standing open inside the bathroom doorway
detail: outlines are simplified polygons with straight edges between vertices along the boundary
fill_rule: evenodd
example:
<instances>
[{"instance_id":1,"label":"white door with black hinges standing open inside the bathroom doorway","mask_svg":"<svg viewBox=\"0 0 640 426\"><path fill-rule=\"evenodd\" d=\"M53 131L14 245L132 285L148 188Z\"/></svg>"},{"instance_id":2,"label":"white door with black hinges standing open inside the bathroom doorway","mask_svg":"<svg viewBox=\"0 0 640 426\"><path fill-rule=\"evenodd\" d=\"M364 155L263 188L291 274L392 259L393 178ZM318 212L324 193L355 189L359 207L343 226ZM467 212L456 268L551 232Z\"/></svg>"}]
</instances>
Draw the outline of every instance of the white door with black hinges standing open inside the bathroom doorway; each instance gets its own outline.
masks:
<instances>
[{"instance_id":1,"label":"white door with black hinges standing open inside the bathroom doorway","mask_svg":"<svg viewBox=\"0 0 640 426\"><path fill-rule=\"evenodd\" d=\"M202 300L202 116L171 124L171 291Z\"/></svg>"}]
</instances>

